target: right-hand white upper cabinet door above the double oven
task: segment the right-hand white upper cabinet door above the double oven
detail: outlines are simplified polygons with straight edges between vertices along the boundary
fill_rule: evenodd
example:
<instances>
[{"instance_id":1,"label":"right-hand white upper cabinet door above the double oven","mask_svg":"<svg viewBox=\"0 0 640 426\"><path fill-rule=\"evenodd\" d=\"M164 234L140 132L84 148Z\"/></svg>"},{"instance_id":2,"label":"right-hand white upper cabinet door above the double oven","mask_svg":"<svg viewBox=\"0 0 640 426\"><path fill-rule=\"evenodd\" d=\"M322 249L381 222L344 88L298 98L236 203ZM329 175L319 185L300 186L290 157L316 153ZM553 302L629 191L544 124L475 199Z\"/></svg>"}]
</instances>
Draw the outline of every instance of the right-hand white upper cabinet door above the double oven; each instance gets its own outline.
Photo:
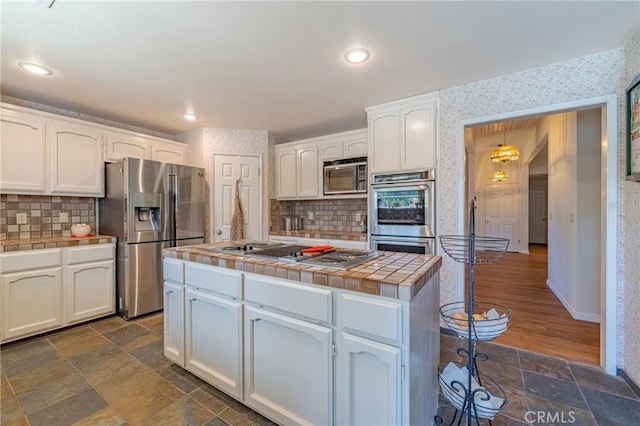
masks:
<instances>
[{"instance_id":1,"label":"right-hand white upper cabinet door above the double oven","mask_svg":"<svg viewBox=\"0 0 640 426\"><path fill-rule=\"evenodd\" d=\"M400 168L429 169L435 161L435 103L401 111Z\"/></svg>"}]
</instances>

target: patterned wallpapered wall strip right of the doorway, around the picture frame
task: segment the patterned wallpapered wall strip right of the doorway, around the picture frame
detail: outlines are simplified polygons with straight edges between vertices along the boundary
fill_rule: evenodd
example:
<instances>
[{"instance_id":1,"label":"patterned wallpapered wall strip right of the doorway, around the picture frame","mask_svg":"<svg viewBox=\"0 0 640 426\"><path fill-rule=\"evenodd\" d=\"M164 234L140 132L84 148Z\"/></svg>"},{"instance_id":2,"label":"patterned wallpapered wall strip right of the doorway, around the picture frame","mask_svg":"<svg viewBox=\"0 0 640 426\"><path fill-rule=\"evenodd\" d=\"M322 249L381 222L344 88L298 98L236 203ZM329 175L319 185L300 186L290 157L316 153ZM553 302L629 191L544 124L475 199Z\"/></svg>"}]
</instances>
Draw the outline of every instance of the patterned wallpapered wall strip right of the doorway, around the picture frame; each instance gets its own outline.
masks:
<instances>
[{"instance_id":1,"label":"patterned wallpapered wall strip right of the doorway, around the picture frame","mask_svg":"<svg viewBox=\"0 0 640 426\"><path fill-rule=\"evenodd\" d=\"M636 33L625 47L625 72L622 89L626 89L633 78L640 73L640 32ZM623 94L621 93L621 96ZM626 174L626 116L622 111L624 98L620 99L620 156L619 156L619 194L618 205L618 265L623 277L618 296L622 302L618 306L618 323L626 324L623 328L624 366L626 373L640 383L640 183L627 182Z\"/></svg>"}]
</instances>

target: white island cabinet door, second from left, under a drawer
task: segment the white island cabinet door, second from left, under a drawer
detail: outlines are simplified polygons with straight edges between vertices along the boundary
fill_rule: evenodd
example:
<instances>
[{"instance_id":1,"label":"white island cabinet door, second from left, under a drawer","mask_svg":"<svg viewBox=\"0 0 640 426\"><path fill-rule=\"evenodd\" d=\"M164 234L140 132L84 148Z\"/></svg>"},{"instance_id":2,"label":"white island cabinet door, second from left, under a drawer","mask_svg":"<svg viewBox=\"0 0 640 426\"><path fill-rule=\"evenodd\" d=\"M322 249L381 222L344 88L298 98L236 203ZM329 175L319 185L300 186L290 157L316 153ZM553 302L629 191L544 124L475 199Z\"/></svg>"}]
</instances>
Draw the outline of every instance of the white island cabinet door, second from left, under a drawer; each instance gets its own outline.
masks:
<instances>
[{"instance_id":1,"label":"white island cabinet door, second from left, under a drawer","mask_svg":"<svg viewBox=\"0 0 640 426\"><path fill-rule=\"evenodd\" d=\"M187 370L242 398L242 304L185 290Z\"/></svg>"}]
</instances>

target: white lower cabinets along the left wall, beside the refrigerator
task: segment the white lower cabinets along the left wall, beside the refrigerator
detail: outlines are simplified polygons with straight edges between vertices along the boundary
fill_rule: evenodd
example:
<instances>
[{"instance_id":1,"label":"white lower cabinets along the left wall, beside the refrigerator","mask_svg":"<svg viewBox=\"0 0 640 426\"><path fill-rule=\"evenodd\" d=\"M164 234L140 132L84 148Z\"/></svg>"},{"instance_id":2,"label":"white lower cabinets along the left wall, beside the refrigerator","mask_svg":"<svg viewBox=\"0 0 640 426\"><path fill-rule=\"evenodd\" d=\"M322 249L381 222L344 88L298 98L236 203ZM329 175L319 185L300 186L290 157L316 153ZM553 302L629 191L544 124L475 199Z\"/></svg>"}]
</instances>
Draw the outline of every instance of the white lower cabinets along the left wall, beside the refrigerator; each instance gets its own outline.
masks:
<instances>
[{"instance_id":1,"label":"white lower cabinets along the left wall, beside the refrigerator","mask_svg":"<svg viewBox=\"0 0 640 426\"><path fill-rule=\"evenodd\" d=\"M8 342L115 312L115 244L0 253Z\"/></svg>"}]
</instances>

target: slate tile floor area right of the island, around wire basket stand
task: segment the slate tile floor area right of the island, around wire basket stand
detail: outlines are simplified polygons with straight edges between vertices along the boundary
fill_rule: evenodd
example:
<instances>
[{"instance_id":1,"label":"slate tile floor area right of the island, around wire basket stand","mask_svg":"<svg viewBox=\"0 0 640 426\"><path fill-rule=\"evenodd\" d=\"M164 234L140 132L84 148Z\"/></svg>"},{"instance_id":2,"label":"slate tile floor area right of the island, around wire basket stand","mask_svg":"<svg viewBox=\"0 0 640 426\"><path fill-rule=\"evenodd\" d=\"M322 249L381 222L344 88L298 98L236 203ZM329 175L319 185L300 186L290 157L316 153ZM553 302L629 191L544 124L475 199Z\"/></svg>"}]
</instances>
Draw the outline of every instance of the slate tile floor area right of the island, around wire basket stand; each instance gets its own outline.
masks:
<instances>
[{"instance_id":1,"label":"slate tile floor area right of the island, around wire basket stand","mask_svg":"<svg viewBox=\"0 0 640 426\"><path fill-rule=\"evenodd\" d=\"M456 349L467 342L451 336L440 338L440 366L450 361L466 363ZM600 369L574 364L491 343L479 343L478 352L489 356L478 361L482 374L497 382L507 405L493 425L640 425L640 397L620 377ZM446 423L453 407L440 401ZM465 423L466 424L466 423Z\"/></svg>"}]
</instances>

